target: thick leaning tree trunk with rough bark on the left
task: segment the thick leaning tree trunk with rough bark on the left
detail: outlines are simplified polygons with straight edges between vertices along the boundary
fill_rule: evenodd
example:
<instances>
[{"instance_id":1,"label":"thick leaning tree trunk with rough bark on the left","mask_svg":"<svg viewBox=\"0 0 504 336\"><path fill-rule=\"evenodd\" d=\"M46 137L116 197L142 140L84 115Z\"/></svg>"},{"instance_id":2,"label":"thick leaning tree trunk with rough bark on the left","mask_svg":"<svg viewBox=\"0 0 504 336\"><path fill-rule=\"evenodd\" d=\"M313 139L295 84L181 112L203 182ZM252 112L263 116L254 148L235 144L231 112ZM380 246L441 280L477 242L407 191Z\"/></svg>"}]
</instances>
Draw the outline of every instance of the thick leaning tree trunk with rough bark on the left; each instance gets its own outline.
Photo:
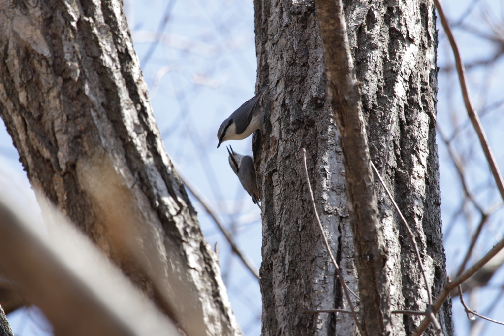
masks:
<instances>
[{"instance_id":1,"label":"thick leaning tree trunk with rough bark on the left","mask_svg":"<svg viewBox=\"0 0 504 336\"><path fill-rule=\"evenodd\" d=\"M43 193L188 335L239 334L117 0L0 2L0 116Z\"/></svg>"}]
</instances>

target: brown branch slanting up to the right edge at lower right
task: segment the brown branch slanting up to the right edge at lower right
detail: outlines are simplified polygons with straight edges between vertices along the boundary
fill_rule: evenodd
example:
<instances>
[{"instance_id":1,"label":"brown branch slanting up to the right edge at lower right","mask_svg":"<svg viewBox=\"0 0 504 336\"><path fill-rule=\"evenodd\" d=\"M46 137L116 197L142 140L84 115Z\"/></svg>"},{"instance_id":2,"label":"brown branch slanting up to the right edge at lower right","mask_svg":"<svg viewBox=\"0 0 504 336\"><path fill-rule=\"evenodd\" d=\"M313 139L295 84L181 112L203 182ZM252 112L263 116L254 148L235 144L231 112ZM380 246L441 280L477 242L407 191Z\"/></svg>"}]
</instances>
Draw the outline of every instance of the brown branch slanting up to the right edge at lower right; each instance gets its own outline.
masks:
<instances>
[{"instance_id":1,"label":"brown branch slanting up to the right edge at lower right","mask_svg":"<svg viewBox=\"0 0 504 336\"><path fill-rule=\"evenodd\" d=\"M490 251L488 251L481 259L479 259L474 265L472 265L468 270L466 270L463 274L458 276L454 281L450 281L450 278L447 279L447 282L445 283L445 286L443 288L443 291L439 293L437 296L436 301L432 304L433 307L433 313L437 313L439 308L443 305L445 300L448 298L450 295L450 292L462 284L464 281L466 281L468 278L470 278L474 273L476 273L478 270L483 267L484 264L486 264L491 258L493 258L502 248L504 248L504 238L499 240L497 244L495 244ZM416 331L412 334L412 336L420 336L423 331L427 328L427 326L430 323L429 318L424 318L423 321L420 323Z\"/></svg>"}]
</instances>

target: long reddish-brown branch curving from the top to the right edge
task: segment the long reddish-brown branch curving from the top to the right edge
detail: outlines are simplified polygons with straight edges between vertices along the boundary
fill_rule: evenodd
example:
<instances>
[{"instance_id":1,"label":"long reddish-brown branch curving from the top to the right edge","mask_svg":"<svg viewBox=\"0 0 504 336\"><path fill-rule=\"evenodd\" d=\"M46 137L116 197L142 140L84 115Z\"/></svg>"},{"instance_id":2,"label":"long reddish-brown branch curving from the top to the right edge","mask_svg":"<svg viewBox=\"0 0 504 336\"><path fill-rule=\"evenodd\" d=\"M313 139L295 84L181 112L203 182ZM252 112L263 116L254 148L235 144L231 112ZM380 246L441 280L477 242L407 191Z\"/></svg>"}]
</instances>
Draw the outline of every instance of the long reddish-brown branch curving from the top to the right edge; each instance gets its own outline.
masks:
<instances>
[{"instance_id":1,"label":"long reddish-brown branch curving from the top to the right edge","mask_svg":"<svg viewBox=\"0 0 504 336\"><path fill-rule=\"evenodd\" d=\"M462 96L464 97L464 103L467 109L467 114L469 115L469 119L471 120L476 133L478 134L479 142L481 143L481 147L483 147L483 152L485 153L486 160L490 165L490 171L492 172L493 179L495 180L495 184L497 185L497 189L499 190L500 197L504 200L504 181L502 181L502 176L499 173L499 169L497 167L497 163L495 162L495 158L493 156L492 150L488 145L488 141L486 139L485 131L483 130L483 126L479 120L478 114L474 110L474 107L471 102L471 97L469 96L469 89L467 87L466 74L464 69L464 64L462 63L462 58L460 56L459 47L457 45L457 41L455 40L455 36L453 35L452 28L450 28L450 24L445 15L443 7L439 0L434 0L434 4L437 9L437 13L439 14L439 19L443 24L443 28L445 29L445 33L450 40L450 44L453 49L453 54L455 57L455 64L457 65L457 73L459 75L460 87L462 89Z\"/></svg>"}]
</instances>

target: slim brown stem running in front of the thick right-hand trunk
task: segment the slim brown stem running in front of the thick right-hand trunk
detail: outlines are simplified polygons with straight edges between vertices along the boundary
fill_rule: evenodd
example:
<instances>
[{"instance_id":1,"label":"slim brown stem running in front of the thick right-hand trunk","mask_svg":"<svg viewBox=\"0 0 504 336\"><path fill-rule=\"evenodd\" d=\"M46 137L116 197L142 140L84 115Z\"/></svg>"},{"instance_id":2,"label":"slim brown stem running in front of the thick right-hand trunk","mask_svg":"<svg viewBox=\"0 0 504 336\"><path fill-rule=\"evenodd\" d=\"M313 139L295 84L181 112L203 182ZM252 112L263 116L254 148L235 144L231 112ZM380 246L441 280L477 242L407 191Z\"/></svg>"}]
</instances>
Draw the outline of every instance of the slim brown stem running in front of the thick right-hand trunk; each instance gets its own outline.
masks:
<instances>
[{"instance_id":1,"label":"slim brown stem running in front of the thick right-hand trunk","mask_svg":"<svg viewBox=\"0 0 504 336\"><path fill-rule=\"evenodd\" d=\"M327 95L340 134L348 207L359 274L360 317L364 332L391 332L387 248L374 194L359 83L355 76L341 0L316 0L324 47Z\"/></svg>"}]
</instances>

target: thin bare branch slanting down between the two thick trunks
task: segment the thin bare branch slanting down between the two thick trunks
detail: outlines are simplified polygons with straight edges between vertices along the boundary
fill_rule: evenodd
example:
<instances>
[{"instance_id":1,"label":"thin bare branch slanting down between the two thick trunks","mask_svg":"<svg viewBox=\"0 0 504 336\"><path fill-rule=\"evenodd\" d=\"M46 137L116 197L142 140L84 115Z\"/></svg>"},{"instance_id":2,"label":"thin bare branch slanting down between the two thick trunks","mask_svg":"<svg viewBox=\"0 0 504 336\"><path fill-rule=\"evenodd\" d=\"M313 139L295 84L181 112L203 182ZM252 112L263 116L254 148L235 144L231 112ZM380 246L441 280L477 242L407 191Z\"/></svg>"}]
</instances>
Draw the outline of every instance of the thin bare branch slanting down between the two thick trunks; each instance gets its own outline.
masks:
<instances>
[{"instance_id":1,"label":"thin bare branch slanting down between the two thick trunks","mask_svg":"<svg viewBox=\"0 0 504 336\"><path fill-rule=\"evenodd\" d=\"M182 181L182 183L187 187L187 189L198 199L201 205L205 208L207 213L212 217L214 222L217 224L217 227L219 230L222 232L224 237L226 238L227 242L231 246L232 251L240 258L241 262L245 267L252 273L258 280L260 279L259 277L259 271L257 267L254 265L254 262L251 261L245 253L241 251L241 249L236 245L234 240L232 239L232 234L224 227L224 224L221 223L221 221L217 218L217 212L213 209L213 206L210 204L210 201L207 200L207 198L201 193L198 188L189 180L186 176L183 175L182 170L179 169L177 164L171 160L173 163L173 166L175 167L175 170L177 171L178 177Z\"/></svg>"}]
</instances>

